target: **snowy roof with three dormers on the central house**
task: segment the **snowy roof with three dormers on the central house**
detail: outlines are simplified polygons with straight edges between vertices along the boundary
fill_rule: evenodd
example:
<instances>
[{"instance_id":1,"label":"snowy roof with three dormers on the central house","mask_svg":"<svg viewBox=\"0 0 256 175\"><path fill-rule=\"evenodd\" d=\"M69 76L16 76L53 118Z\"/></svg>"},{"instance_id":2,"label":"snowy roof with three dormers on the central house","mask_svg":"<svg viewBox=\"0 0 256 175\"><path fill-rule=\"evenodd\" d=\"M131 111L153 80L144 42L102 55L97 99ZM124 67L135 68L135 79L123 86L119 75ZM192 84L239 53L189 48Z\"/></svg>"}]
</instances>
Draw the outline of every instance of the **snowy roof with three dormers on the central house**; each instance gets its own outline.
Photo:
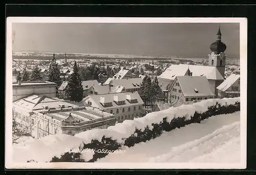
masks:
<instances>
[{"instance_id":1,"label":"snowy roof with three dormers on the central house","mask_svg":"<svg viewBox=\"0 0 256 175\"><path fill-rule=\"evenodd\" d=\"M114 102L114 98L117 97L118 99L127 99L126 95L131 95L133 96L133 98L137 99L137 103L130 103L129 101L125 101L125 104L122 105L117 105ZM100 103L100 99L102 100L104 98L104 101L106 102L112 102L112 106L109 107L103 107ZM117 94L104 94L104 95L89 95L86 98L84 98L82 100L83 103L85 103L86 100L90 99L91 101L94 102L94 104L96 104L97 106L94 107L98 107L100 109L106 109L106 108L118 108L118 107L124 107L124 106L134 106L134 105L142 105L144 104L144 102L142 101L140 95L138 92L125 92L125 93L117 93Z\"/></svg>"}]
</instances>

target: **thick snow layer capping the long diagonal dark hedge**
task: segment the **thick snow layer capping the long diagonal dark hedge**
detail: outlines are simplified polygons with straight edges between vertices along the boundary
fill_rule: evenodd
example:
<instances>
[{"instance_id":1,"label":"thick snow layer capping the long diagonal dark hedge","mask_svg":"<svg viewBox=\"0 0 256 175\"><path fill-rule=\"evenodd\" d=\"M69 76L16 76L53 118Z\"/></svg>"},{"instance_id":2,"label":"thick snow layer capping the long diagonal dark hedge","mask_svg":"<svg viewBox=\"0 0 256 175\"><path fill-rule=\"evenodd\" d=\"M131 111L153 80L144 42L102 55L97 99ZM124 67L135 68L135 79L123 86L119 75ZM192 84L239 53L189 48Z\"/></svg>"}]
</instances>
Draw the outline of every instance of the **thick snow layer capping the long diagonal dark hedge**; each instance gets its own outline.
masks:
<instances>
[{"instance_id":1,"label":"thick snow layer capping the long diagonal dark hedge","mask_svg":"<svg viewBox=\"0 0 256 175\"><path fill-rule=\"evenodd\" d=\"M167 118L167 122L178 117L186 117L186 120L189 120L191 116L194 116L195 112L204 113L208 110L209 106L214 106L216 103L230 105L236 102L240 102L240 97L202 100L194 104L170 107L167 110L149 113L144 117L135 118L134 120L125 120L107 129L87 130L86 132L76 134L75 137L81 138L84 144L89 144L92 140L101 142L103 136L117 140L119 143L124 143L126 138L134 134L136 128L141 129L142 132L147 126L149 129L152 129L152 123L159 124L163 121L163 118Z\"/></svg>"}]
</instances>

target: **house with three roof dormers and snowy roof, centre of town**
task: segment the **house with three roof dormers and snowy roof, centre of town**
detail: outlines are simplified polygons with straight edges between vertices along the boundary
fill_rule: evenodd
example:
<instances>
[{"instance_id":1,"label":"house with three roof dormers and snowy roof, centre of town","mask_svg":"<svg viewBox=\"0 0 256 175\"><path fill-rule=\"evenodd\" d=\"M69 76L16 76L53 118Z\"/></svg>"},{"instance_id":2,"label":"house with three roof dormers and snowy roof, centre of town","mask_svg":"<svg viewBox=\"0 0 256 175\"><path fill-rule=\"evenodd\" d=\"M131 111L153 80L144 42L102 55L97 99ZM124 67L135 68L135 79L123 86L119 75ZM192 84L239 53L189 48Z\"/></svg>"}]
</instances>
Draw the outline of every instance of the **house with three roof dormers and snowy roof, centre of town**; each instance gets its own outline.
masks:
<instances>
[{"instance_id":1,"label":"house with three roof dormers and snowy roof, centre of town","mask_svg":"<svg viewBox=\"0 0 256 175\"><path fill-rule=\"evenodd\" d=\"M144 104L138 92L89 95L82 100L82 103L114 114L118 122L142 117L142 105Z\"/></svg>"}]
</instances>

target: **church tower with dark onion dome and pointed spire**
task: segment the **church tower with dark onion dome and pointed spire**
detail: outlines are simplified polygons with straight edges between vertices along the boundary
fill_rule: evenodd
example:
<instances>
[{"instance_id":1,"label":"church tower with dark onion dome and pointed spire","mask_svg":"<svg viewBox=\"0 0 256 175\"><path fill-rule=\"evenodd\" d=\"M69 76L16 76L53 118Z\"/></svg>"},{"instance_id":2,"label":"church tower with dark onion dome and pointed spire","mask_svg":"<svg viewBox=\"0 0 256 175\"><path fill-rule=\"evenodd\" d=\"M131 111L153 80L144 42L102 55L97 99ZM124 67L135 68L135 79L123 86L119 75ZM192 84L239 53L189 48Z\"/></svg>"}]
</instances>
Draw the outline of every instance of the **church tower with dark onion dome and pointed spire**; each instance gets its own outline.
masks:
<instances>
[{"instance_id":1,"label":"church tower with dark onion dome and pointed spire","mask_svg":"<svg viewBox=\"0 0 256 175\"><path fill-rule=\"evenodd\" d=\"M223 78L225 77L226 55L224 51L227 49L225 43L221 41L221 29L219 27L216 35L216 41L210 45L211 54L209 54L209 66L216 67Z\"/></svg>"}]
</instances>

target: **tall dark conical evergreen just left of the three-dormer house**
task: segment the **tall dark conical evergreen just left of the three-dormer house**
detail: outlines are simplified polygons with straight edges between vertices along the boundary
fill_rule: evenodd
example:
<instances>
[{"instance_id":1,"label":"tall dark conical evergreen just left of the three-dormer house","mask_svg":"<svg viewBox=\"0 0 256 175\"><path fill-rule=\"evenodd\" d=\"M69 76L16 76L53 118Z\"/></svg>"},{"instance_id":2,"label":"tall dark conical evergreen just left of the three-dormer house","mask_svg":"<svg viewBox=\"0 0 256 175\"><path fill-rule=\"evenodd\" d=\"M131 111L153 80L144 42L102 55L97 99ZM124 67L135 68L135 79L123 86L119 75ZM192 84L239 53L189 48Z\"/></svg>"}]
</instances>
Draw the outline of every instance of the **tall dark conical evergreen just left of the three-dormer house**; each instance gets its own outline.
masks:
<instances>
[{"instance_id":1,"label":"tall dark conical evergreen just left of the three-dormer house","mask_svg":"<svg viewBox=\"0 0 256 175\"><path fill-rule=\"evenodd\" d=\"M81 78L78 74L76 61L73 67L73 73L69 78L67 96L69 97L70 101L75 101L75 102L79 102L83 98L82 83L81 83Z\"/></svg>"}]
</instances>

